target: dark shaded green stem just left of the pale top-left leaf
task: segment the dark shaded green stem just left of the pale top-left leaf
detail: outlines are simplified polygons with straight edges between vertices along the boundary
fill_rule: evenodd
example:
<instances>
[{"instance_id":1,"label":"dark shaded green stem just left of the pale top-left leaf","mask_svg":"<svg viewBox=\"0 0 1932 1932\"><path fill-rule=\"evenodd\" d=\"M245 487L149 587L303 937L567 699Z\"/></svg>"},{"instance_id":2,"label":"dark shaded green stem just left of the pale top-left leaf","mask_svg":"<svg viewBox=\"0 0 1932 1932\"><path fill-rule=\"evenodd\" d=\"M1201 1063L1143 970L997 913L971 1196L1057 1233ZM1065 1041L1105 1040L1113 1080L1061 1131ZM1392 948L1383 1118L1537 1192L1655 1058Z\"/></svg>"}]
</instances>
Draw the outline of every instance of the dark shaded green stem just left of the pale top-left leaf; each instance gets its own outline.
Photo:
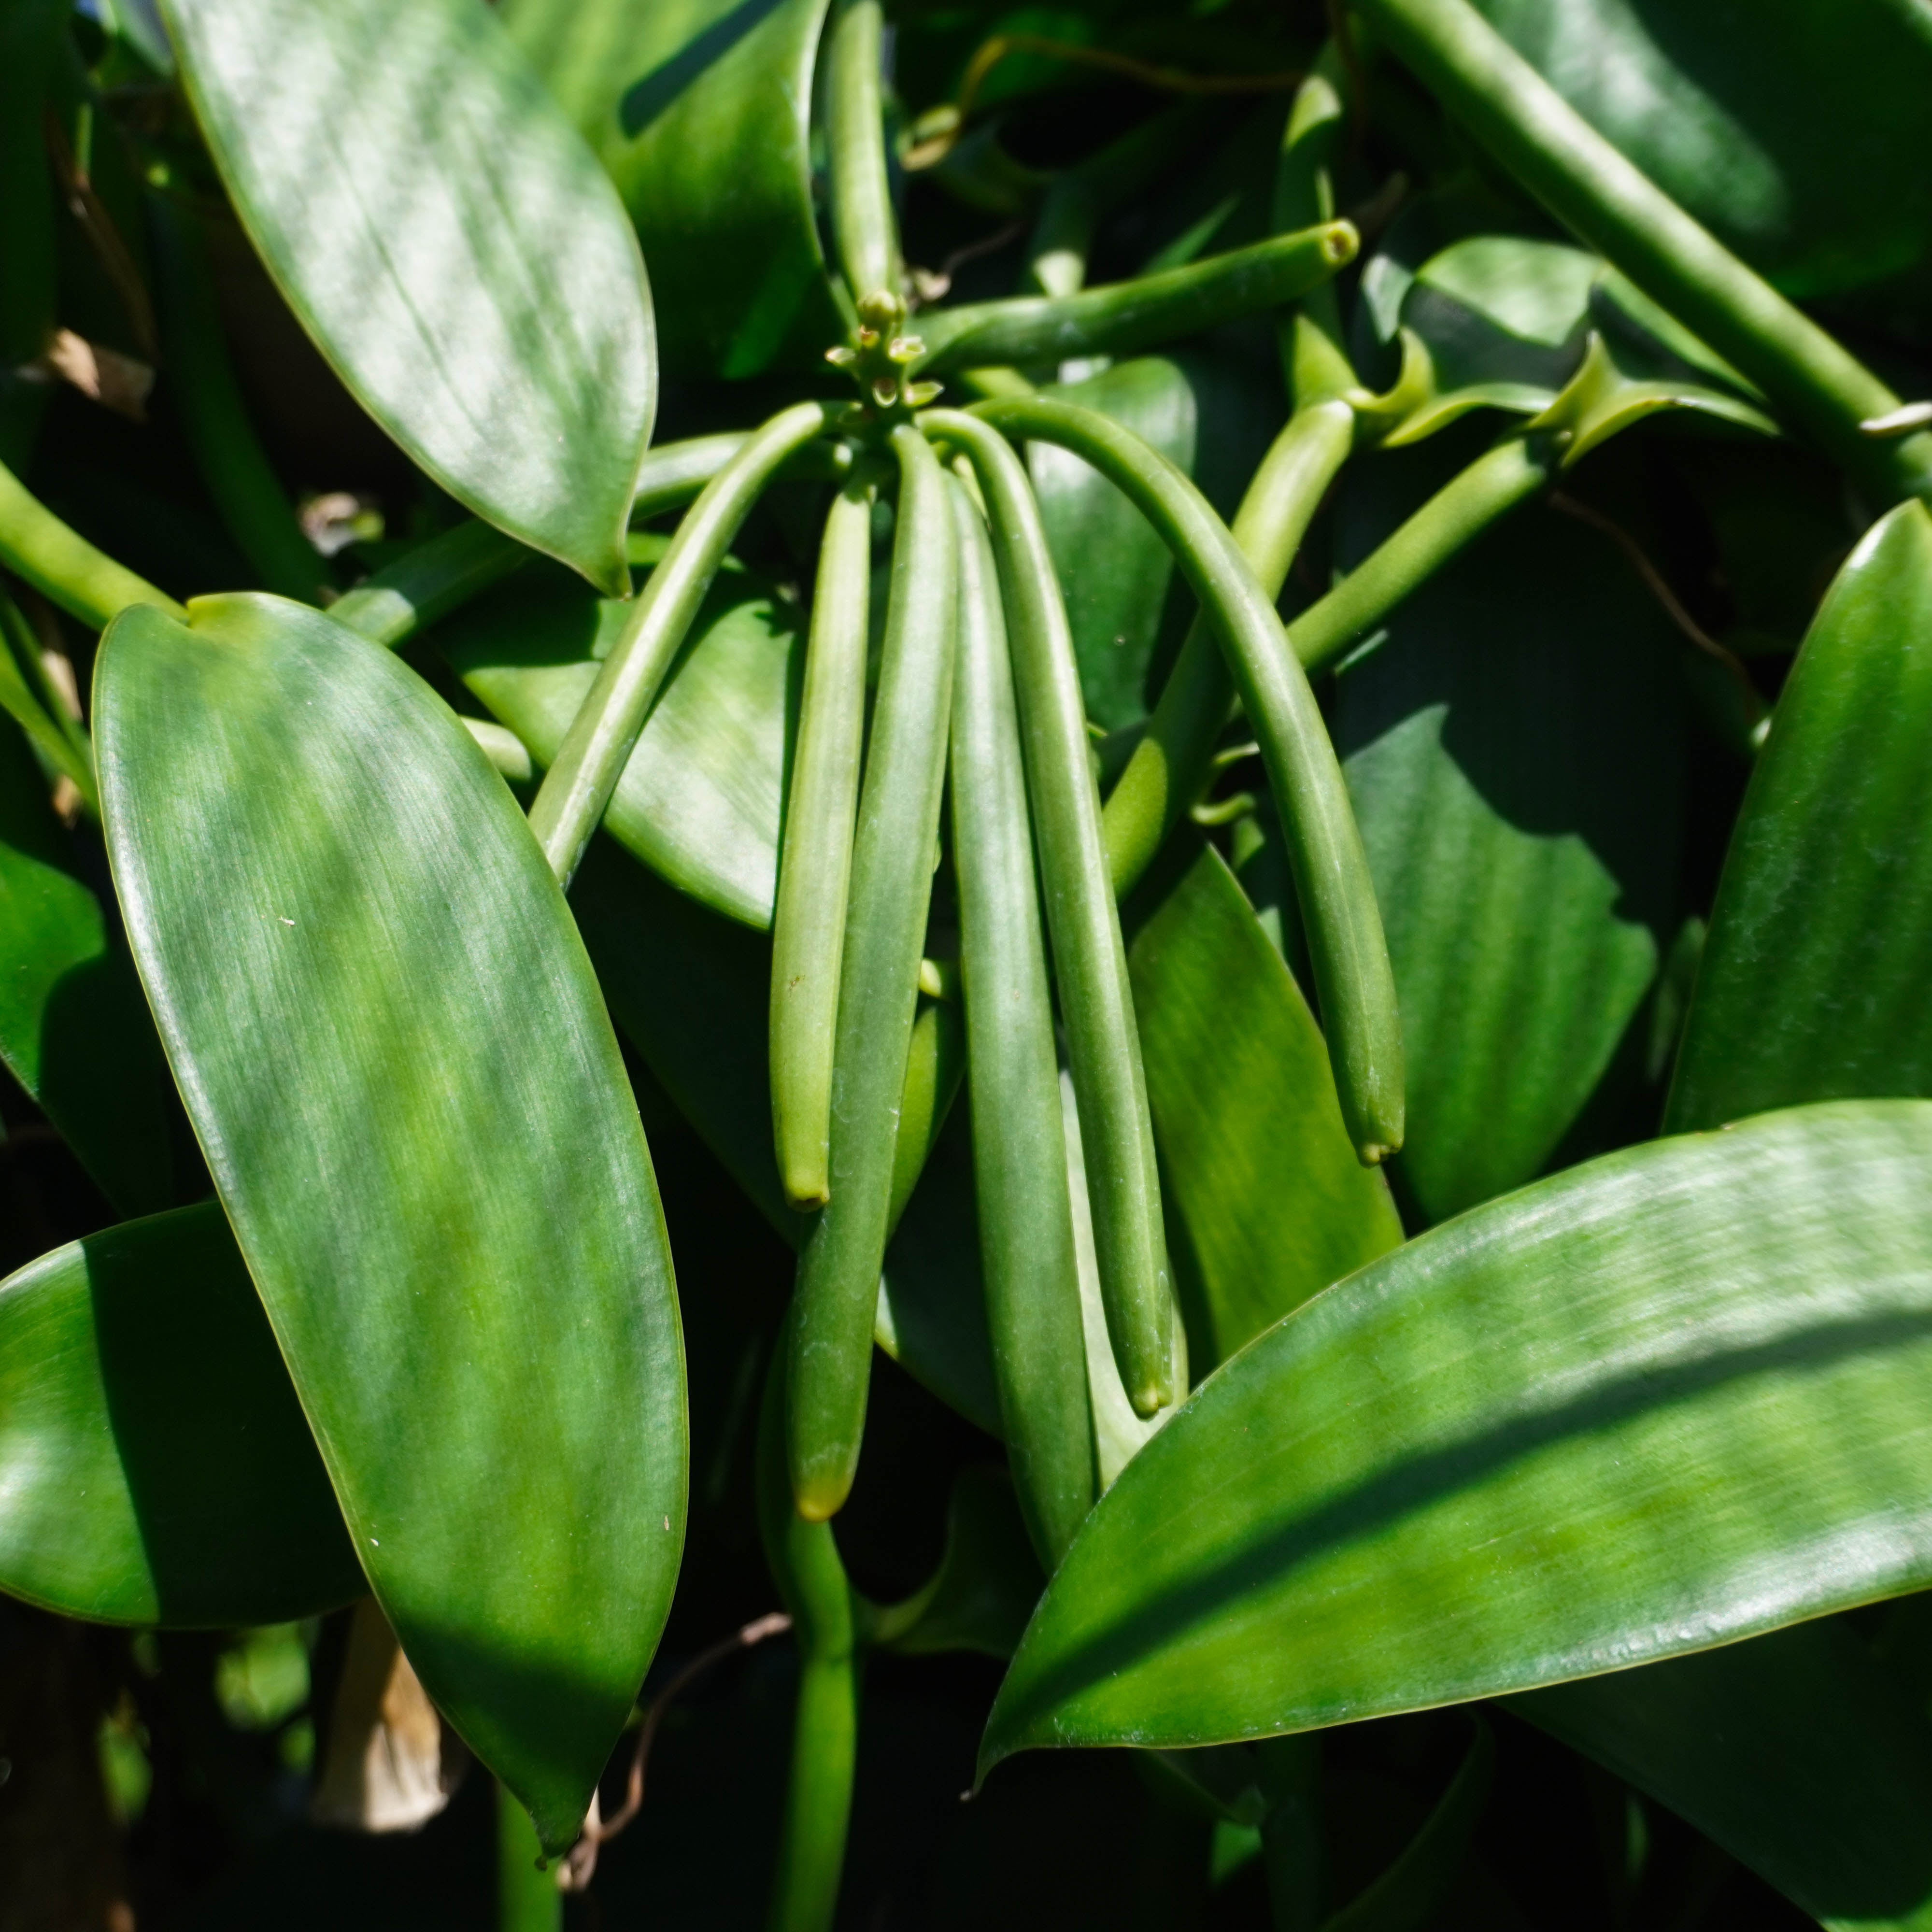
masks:
<instances>
[{"instance_id":1,"label":"dark shaded green stem just left of the pale top-left leaf","mask_svg":"<svg viewBox=\"0 0 1932 1932\"><path fill-rule=\"evenodd\" d=\"M301 533L282 479L247 419L214 307L201 220L166 187L149 187L147 228L160 298L162 381L201 481L263 589L317 603L328 564Z\"/></svg>"}]
</instances>

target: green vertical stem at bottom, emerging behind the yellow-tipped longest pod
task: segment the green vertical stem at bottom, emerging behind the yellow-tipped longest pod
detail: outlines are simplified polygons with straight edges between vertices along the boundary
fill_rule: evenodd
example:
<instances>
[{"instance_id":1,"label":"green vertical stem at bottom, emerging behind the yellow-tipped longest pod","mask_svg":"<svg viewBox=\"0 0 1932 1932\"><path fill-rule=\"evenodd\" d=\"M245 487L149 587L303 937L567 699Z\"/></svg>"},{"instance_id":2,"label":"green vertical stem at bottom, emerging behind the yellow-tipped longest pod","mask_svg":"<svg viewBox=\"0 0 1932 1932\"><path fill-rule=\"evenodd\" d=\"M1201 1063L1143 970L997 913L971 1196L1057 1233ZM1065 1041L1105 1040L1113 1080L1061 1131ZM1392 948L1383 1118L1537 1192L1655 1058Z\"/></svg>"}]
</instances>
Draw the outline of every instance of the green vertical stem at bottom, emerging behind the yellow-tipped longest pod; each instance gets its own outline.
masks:
<instances>
[{"instance_id":1,"label":"green vertical stem at bottom, emerging behind the yellow-tipped longest pod","mask_svg":"<svg viewBox=\"0 0 1932 1932\"><path fill-rule=\"evenodd\" d=\"M829 1932L838 1907L858 1750L860 1654L852 1584L829 1522L792 1507L784 1470L786 1321L757 1424L757 1528L798 1644L798 1712L784 1783L771 1932Z\"/></svg>"}]
</instances>

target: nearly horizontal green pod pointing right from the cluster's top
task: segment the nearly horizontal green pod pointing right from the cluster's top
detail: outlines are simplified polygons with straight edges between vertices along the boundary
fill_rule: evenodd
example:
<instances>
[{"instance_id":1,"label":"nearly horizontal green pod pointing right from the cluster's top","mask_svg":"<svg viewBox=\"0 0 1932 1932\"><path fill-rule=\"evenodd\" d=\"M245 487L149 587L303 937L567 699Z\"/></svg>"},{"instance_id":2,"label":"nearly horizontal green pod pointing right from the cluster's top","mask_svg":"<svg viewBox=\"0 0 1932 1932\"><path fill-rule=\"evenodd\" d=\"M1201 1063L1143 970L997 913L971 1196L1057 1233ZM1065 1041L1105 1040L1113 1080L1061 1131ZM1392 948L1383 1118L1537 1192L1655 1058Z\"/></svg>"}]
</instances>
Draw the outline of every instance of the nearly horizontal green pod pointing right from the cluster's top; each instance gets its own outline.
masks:
<instances>
[{"instance_id":1,"label":"nearly horizontal green pod pointing right from the cluster's top","mask_svg":"<svg viewBox=\"0 0 1932 1932\"><path fill-rule=\"evenodd\" d=\"M916 367L931 375L989 363L1055 363L1068 355L1132 355L1294 301L1354 261L1358 245L1349 222L1323 222L1136 282L931 309L920 317L925 354Z\"/></svg>"}]
</instances>

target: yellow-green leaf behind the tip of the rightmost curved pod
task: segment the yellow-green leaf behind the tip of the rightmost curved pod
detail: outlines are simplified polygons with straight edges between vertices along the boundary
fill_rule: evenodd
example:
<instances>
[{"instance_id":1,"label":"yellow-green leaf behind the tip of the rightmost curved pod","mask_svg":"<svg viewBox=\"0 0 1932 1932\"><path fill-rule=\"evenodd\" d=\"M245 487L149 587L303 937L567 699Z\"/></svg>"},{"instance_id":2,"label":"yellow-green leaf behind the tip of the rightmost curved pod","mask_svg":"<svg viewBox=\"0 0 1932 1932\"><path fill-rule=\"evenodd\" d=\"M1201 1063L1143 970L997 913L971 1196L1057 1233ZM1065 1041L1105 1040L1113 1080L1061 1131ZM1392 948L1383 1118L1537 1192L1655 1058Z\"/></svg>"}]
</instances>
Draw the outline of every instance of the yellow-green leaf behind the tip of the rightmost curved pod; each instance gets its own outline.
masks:
<instances>
[{"instance_id":1,"label":"yellow-green leaf behind the tip of the rightmost curved pod","mask_svg":"<svg viewBox=\"0 0 1932 1932\"><path fill-rule=\"evenodd\" d=\"M1140 1057L1190 1360L1204 1376L1331 1281L1397 1246L1308 1001L1221 856L1175 840L1126 908Z\"/></svg>"}]
</instances>

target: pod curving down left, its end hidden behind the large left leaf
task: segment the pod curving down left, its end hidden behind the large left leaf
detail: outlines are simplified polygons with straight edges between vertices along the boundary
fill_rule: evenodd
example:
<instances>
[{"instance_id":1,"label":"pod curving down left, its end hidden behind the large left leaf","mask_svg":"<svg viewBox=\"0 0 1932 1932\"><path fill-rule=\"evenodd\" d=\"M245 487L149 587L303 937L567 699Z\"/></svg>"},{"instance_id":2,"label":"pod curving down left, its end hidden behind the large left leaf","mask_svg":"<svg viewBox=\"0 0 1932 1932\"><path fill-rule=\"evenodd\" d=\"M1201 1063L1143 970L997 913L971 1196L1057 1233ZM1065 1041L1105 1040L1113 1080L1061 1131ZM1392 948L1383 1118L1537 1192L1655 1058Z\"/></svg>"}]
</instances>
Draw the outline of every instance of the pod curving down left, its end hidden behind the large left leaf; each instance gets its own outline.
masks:
<instances>
[{"instance_id":1,"label":"pod curving down left, its end hidden behind the large left leaf","mask_svg":"<svg viewBox=\"0 0 1932 1932\"><path fill-rule=\"evenodd\" d=\"M651 572L529 808L529 825L566 887L738 526L779 464L825 423L827 410L817 402L781 410L705 485Z\"/></svg>"}]
</instances>

